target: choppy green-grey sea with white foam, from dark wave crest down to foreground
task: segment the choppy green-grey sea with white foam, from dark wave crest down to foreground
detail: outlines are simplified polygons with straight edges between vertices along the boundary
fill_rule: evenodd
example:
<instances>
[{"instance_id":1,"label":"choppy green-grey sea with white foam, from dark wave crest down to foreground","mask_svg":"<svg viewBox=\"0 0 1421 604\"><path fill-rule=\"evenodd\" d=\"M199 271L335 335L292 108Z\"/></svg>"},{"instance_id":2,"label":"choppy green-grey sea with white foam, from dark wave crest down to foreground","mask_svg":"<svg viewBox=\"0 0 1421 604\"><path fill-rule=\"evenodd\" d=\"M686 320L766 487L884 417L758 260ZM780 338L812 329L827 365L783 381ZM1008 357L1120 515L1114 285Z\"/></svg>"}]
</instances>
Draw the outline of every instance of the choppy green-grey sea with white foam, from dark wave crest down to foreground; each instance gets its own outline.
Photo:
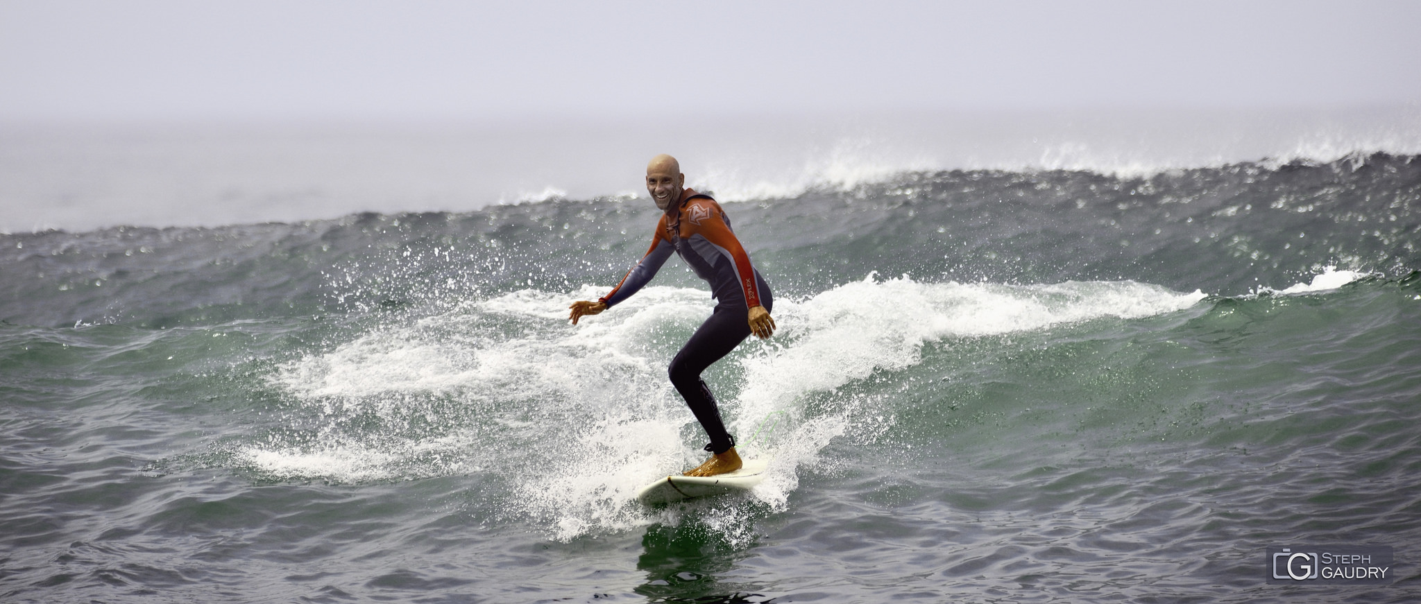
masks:
<instances>
[{"instance_id":1,"label":"choppy green-grey sea with white foam, from dark wave crest down to foreground","mask_svg":"<svg viewBox=\"0 0 1421 604\"><path fill-rule=\"evenodd\" d=\"M780 331L706 378L772 472L657 509L712 301L566 321L644 198L0 234L0 600L1421 598L1421 156L732 198Z\"/></svg>"}]
</instances>

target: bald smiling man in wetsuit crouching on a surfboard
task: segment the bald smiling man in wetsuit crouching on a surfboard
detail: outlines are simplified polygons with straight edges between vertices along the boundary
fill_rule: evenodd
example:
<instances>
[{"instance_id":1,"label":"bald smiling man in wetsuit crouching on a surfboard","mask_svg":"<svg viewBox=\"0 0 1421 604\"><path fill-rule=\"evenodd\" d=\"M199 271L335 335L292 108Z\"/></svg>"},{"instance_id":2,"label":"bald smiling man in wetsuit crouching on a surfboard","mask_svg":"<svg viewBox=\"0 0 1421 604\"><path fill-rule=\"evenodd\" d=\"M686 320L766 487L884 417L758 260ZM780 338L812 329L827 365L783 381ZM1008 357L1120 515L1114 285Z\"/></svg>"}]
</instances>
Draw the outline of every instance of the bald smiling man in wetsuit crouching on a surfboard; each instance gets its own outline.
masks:
<instances>
[{"instance_id":1,"label":"bald smiling man in wetsuit crouching on a surfboard","mask_svg":"<svg viewBox=\"0 0 1421 604\"><path fill-rule=\"evenodd\" d=\"M686 476L715 476L740 469L740 456L735 452L735 438L720 421L720 409L710 395L710 388L701 379L706 367L719 361L739 345L747 335L767 338L774 333L770 308L770 286L750 266L750 257L740 240L730 230L730 219L720 205L709 195L686 189L686 176L681 163L669 155L658 155L647 165L647 192L664 213L651 239L651 249L627 271L621 283L597 301L578 300L568 308L573 324L577 320L598 314L637 293L672 253L710 284L710 296L716 298L710 318L681 347L671 360L668 374L671 384L686 399L691 412L710 436L705 451L710 459Z\"/></svg>"}]
</instances>

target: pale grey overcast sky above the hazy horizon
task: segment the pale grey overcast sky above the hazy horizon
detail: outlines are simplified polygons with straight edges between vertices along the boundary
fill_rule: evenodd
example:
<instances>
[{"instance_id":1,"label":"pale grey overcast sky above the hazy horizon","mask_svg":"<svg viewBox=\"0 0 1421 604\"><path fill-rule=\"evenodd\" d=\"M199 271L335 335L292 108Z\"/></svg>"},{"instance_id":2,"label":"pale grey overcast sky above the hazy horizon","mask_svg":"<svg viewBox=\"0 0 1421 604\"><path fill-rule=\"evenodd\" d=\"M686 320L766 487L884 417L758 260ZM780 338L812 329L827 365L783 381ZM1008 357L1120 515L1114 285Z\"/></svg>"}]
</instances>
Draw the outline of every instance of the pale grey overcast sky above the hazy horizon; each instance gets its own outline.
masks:
<instances>
[{"instance_id":1,"label":"pale grey overcast sky above the hazy horizon","mask_svg":"<svg viewBox=\"0 0 1421 604\"><path fill-rule=\"evenodd\" d=\"M1421 1L0 0L0 121L1421 101Z\"/></svg>"}]
</instances>

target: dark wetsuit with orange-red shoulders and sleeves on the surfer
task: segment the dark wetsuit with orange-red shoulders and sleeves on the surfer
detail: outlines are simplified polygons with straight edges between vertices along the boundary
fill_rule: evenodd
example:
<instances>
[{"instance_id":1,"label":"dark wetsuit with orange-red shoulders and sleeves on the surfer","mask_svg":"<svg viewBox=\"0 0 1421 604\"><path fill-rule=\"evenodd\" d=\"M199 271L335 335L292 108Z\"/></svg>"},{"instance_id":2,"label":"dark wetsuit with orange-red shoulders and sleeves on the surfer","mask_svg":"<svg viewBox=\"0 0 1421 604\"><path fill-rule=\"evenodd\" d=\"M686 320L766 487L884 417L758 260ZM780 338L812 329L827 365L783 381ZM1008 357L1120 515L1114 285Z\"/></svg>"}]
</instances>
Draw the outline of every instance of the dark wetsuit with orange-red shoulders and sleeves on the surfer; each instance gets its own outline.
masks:
<instances>
[{"instance_id":1,"label":"dark wetsuit with orange-red shoulders and sleeves on the surfer","mask_svg":"<svg viewBox=\"0 0 1421 604\"><path fill-rule=\"evenodd\" d=\"M672 253L679 254L698 277L710 284L716 307L710 318L701 324L671 360L671 384L710 436L706 451L723 453L735 446L735 438L726 432L720 409L710 388L701 379L701 372L750 335L750 308L763 306L769 311L774 301L770 286L750 266L750 256L730 230L730 219L725 216L725 210L710 196L692 189L685 189L681 200L661 216L647 256L600 301L610 308L627 300L657 276Z\"/></svg>"}]
</instances>

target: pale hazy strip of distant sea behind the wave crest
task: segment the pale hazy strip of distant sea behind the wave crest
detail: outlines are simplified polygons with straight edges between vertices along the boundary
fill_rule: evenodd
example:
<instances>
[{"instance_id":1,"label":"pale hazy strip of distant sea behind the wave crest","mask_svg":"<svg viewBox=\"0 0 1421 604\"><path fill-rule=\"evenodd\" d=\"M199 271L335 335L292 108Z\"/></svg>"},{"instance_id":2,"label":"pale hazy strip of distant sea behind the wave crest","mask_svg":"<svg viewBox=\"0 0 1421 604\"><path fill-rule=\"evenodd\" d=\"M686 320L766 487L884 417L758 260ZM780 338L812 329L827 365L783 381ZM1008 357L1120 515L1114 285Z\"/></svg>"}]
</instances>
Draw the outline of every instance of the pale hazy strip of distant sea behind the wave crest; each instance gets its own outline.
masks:
<instances>
[{"instance_id":1,"label":"pale hazy strip of distant sea behind the wave crest","mask_svg":"<svg viewBox=\"0 0 1421 604\"><path fill-rule=\"evenodd\" d=\"M0 232L330 220L644 193L649 155L722 200L936 172L1151 178L1229 165L1421 153L1421 109L898 112L556 129L0 126Z\"/></svg>"}]
</instances>

